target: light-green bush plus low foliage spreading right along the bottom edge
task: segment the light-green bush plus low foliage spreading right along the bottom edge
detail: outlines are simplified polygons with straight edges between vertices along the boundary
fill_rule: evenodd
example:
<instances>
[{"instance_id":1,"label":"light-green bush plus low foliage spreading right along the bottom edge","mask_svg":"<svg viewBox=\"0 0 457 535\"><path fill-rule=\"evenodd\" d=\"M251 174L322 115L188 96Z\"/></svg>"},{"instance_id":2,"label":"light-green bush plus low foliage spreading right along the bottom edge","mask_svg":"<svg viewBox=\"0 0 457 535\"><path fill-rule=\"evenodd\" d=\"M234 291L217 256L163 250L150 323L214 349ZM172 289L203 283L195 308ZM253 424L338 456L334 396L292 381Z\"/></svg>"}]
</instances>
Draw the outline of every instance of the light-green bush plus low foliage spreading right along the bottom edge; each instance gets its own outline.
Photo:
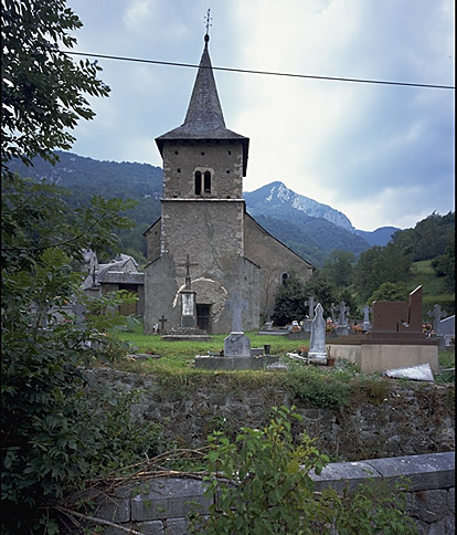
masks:
<instances>
[{"instance_id":1,"label":"light-green bush plus low foliage spreading right along the bottom edge","mask_svg":"<svg viewBox=\"0 0 457 535\"><path fill-rule=\"evenodd\" d=\"M209 438L206 495L214 502L210 516L194 518L193 533L266 534L414 534L405 515L403 489L361 485L313 493L311 470L328 463L304 433L295 442L291 420L301 421L295 407L273 408L269 424L242 428L232 442L222 432Z\"/></svg>"}]
</instances>

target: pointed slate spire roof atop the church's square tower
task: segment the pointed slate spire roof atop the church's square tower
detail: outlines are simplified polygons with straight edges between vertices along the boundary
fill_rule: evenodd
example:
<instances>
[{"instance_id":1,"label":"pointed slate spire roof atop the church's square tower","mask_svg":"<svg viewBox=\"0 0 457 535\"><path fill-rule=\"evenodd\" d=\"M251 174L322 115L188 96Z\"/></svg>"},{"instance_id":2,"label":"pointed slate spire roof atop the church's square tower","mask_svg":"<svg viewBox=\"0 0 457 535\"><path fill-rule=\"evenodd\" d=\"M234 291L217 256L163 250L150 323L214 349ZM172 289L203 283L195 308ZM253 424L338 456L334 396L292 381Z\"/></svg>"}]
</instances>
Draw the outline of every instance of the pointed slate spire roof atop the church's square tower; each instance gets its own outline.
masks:
<instances>
[{"instance_id":1,"label":"pointed slate spire roof atop the church's square tower","mask_svg":"<svg viewBox=\"0 0 457 535\"><path fill-rule=\"evenodd\" d=\"M238 140L243 144L244 175L246 172L249 139L225 126L208 50L209 40L210 38L206 34L184 123L178 128L157 137L156 143L163 156L163 143L169 140Z\"/></svg>"}]
</instances>

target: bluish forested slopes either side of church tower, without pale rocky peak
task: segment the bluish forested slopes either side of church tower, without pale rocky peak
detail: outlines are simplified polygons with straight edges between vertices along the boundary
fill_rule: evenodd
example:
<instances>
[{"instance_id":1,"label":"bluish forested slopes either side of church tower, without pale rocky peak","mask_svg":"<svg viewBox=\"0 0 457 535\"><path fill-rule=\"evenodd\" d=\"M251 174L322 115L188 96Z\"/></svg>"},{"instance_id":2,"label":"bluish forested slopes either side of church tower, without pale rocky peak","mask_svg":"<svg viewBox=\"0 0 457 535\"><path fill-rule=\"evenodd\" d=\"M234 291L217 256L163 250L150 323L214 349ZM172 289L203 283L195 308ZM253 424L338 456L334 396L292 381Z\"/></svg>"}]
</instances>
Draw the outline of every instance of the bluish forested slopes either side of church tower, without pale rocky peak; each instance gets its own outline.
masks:
<instances>
[{"instance_id":1,"label":"bluish forested slopes either side of church tower, without pale rocky peak","mask_svg":"<svg viewBox=\"0 0 457 535\"><path fill-rule=\"evenodd\" d=\"M136 227L123 231L119 238L123 252L145 264L146 241L142 233L160 217L162 169L148 164L98 161L61 150L55 154L60 158L55 166L36 158L33 167L13 161L11 169L23 177L44 179L67 188L72 192L68 203L73 207L87 206L94 195L135 200L136 206L127 216ZM363 238L323 218L310 217L304 212L290 216L288 210L289 207L284 204L276 207L273 214L263 216L257 207L255 219L270 234L313 265L323 265L329 252L334 249L360 254L370 246Z\"/></svg>"}]
</instances>

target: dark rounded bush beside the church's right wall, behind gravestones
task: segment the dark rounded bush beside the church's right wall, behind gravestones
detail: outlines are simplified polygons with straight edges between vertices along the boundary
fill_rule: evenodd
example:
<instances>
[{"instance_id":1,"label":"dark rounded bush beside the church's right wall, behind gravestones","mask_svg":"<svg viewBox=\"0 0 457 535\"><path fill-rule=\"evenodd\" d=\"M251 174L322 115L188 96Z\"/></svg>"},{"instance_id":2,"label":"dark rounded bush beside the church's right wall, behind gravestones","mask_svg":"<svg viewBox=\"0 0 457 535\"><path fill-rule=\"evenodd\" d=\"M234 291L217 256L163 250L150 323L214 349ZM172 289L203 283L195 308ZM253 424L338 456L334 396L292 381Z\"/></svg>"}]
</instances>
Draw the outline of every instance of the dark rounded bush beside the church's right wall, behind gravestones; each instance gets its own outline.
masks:
<instances>
[{"instance_id":1,"label":"dark rounded bush beside the church's right wall, behind gravestones","mask_svg":"<svg viewBox=\"0 0 457 535\"><path fill-rule=\"evenodd\" d=\"M275 310L272 315L275 324L286 325L288 322L305 317L305 285L290 273L276 292Z\"/></svg>"}]
</instances>

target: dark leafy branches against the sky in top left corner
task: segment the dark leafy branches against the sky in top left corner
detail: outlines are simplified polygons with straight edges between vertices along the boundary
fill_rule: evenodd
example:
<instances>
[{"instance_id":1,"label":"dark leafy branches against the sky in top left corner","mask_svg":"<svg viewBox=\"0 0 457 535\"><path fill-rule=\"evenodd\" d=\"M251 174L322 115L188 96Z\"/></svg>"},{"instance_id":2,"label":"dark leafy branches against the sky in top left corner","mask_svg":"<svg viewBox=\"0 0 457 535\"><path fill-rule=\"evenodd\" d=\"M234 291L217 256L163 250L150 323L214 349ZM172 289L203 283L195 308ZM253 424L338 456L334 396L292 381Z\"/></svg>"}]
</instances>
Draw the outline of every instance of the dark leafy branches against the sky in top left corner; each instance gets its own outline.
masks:
<instances>
[{"instance_id":1,"label":"dark leafy branches against the sky in top left corner","mask_svg":"<svg viewBox=\"0 0 457 535\"><path fill-rule=\"evenodd\" d=\"M68 129L95 115L83 94L106 96L109 87L97 80L96 62L76 64L59 50L73 48L72 33L82 27L64 0L2 0L1 7L2 164L54 161L52 150L75 140Z\"/></svg>"}]
</instances>

